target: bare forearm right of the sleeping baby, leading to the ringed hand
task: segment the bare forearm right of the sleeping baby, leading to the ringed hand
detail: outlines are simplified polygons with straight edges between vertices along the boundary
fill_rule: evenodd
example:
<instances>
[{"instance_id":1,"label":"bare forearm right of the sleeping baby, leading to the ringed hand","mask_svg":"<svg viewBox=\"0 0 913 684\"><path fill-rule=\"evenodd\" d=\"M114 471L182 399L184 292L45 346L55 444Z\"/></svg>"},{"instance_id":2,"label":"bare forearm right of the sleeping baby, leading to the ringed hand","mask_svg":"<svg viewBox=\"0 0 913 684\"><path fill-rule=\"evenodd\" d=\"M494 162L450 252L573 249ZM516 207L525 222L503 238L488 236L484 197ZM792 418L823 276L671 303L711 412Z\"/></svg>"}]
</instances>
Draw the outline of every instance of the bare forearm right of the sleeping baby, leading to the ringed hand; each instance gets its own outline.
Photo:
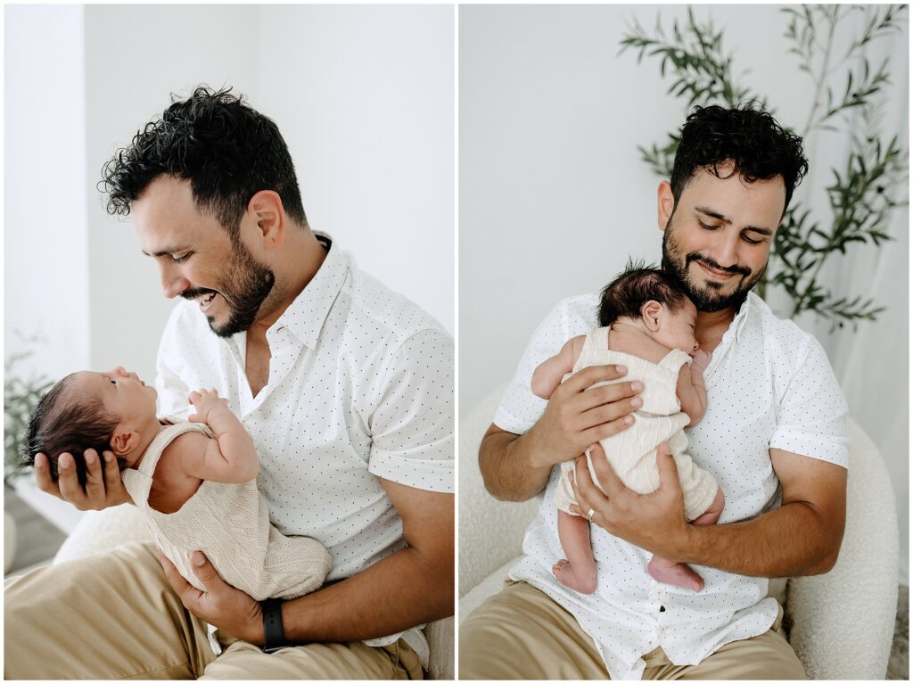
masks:
<instances>
[{"instance_id":1,"label":"bare forearm right of the sleeping baby, leading to the ringed hand","mask_svg":"<svg viewBox=\"0 0 913 684\"><path fill-rule=\"evenodd\" d=\"M688 525L677 561L756 577L826 573L837 560L843 527L834 530L813 506L794 502L726 525Z\"/></svg>"}]
</instances>

